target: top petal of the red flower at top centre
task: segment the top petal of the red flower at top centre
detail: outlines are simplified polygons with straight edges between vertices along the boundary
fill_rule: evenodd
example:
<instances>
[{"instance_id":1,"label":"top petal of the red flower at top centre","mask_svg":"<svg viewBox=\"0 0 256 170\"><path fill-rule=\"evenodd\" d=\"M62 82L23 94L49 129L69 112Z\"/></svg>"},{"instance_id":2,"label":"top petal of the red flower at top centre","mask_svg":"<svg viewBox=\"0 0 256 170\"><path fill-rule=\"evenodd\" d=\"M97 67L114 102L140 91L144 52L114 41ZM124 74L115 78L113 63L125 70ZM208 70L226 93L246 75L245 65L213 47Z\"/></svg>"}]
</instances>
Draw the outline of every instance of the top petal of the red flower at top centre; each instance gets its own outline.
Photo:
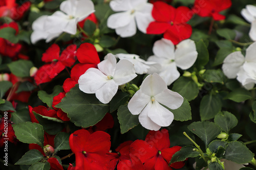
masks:
<instances>
[{"instance_id":1,"label":"top petal of the red flower at top centre","mask_svg":"<svg viewBox=\"0 0 256 170\"><path fill-rule=\"evenodd\" d=\"M175 18L176 9L164 2L153 4L152 16L159 22L170 22Z\"/></svg>"}]
</instances>

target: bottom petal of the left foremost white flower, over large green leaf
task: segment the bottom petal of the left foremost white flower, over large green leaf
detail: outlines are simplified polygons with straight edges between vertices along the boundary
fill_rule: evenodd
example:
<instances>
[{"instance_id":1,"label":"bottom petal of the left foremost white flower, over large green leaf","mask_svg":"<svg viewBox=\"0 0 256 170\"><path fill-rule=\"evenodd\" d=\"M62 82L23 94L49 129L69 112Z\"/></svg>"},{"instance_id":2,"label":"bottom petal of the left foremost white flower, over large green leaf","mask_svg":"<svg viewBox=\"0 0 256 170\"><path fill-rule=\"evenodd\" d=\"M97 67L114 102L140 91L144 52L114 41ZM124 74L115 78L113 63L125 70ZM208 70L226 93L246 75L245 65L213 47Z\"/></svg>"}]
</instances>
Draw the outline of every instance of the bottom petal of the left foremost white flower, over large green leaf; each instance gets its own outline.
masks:
<instances>
[{"instance_id":1,"label":"bottom petal of the left foremost white flower, over large green leaf","mask_svg":"<svg viewBox=\"0 0 256 170\"><path fill-rule=\"evenodd\" d=\"M109 80L100 89L96 91L96 98L104 104L109 103L118 90L118 85L113 81Z\"/></svg>"}]
</instances>

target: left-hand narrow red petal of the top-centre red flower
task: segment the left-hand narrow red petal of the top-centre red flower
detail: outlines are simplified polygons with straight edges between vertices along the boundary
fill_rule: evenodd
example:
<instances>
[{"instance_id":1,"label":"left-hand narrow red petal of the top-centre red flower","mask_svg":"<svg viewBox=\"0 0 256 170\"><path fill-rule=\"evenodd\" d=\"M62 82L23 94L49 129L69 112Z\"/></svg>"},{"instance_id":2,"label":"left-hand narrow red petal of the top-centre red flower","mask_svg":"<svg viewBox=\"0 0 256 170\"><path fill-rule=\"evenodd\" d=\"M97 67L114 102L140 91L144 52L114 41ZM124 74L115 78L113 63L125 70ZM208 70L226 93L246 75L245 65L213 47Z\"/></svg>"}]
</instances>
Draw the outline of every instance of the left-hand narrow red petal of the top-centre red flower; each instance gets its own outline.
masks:
<instances>
[{"instance_id":1,"label":"left-hand narrow red petal of the top-centre red flower","mask_svg":"<svg viewBox=\"0 0 256 170\"><path fill-rule=\"evenodd\" d=\"M163 34L170 27L169 23L151 22L146 29L147 34Z\"/></svg>"}]
</instances>

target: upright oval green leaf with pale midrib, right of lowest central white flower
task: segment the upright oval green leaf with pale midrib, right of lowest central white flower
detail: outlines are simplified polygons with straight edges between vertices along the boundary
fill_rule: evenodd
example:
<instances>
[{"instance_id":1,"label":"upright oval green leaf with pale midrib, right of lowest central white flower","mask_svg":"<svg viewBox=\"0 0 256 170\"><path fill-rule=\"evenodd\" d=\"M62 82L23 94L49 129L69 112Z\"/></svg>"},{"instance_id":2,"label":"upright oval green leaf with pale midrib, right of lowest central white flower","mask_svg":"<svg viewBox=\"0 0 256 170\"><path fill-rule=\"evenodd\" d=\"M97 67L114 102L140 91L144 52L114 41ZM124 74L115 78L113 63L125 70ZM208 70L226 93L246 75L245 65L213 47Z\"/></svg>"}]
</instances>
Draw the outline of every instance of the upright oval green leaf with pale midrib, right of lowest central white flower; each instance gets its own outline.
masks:
<instances>
[{"instance_id":1,"label":"upright oval green leaf with pale midrib, right of lowest central white flower","mask_svg":"<svg viewBox=\"0 0 256 170\"><path fill-rule=\"evenodd\" d=\"M221 111L222 102L217 95L206 94L200 103L201 120L214 118Z\"/></svg>"}]
</instances>

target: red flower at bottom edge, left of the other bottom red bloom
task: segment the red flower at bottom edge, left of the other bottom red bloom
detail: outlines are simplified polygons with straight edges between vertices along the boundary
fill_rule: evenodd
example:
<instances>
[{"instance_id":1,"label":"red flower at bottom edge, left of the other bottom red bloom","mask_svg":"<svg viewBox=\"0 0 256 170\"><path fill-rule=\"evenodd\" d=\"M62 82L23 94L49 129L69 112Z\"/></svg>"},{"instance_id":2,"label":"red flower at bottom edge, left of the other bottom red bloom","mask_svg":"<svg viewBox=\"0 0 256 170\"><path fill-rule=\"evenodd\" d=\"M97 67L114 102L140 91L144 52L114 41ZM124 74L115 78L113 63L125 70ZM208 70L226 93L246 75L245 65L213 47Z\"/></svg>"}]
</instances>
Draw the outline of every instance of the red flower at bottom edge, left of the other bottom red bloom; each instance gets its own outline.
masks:
<instances>
[{"instance_id":1,"label":"red flower at bottom edge, left of the other bottom red bloom","mask_svg":"<svg viewBox=\"0 0 256 170\"><path fill-rule=\"evenodd\" d=\"M70 148L76 156L75 169L102 170L109 164L110 135L97 131L92 134L81 129L69 137Z\"/></svg>"}]
</instances>

